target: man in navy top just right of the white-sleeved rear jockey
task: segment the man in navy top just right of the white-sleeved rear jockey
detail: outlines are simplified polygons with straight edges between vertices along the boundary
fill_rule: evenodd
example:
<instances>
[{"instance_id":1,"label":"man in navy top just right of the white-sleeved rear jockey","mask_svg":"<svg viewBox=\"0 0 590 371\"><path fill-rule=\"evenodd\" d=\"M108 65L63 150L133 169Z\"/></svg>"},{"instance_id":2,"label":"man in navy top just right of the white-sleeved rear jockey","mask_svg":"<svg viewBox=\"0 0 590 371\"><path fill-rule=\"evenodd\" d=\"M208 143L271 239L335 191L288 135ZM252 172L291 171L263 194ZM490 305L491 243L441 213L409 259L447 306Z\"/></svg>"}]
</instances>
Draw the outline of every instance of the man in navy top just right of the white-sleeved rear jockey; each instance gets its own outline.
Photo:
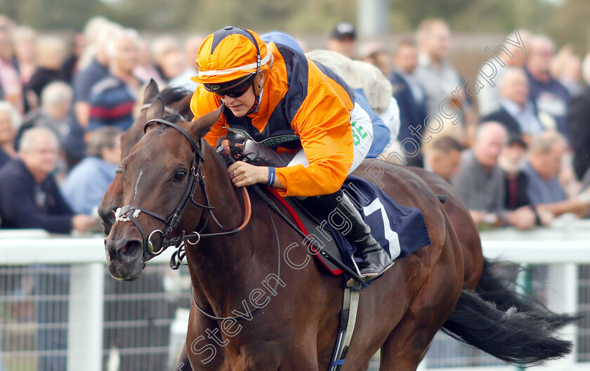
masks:
<instances>
[{"instance_id":1,"label":"man in navy top just right of the white-sleeved rear jockey","mask_svg":"<svg viewBox=\"0 0 590 371\"><path fill-rule=\"evenodd\" d=\"M400 107L400 143L406 138L412 138L410 126L424 126L426 119L426 93L414 76L417 66L416 44L411 39L403 39L393 52L393 72L389 77L393 86L393 98L398 101Z\"/></svg>"}]
</instances>

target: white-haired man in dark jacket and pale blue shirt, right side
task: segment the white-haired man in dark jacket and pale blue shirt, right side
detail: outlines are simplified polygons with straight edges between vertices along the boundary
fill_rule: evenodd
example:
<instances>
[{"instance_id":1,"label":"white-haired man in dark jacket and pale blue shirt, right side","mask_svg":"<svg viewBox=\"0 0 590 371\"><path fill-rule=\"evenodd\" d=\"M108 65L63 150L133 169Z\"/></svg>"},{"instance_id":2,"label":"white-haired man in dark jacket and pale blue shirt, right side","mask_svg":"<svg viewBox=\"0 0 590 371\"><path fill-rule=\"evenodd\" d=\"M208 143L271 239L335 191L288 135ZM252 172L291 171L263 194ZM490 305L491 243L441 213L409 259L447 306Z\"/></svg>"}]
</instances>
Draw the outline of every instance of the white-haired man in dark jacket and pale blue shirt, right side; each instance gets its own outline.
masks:
<instances>
[{"instance_id":1,"label":"white-haired man in dark jacket and pale blue shirt, right side","mask_svg":"<svg viewBox=\"0 0 590 371\"><path fill-rule=\"evenodd\" d=\"M529 99L528 79L518 67L509 68L499 82L500 108L483 117L482 122L495 121L506 126L510 136L530 142L544 129Z\"/></svg>"}]
</instances>

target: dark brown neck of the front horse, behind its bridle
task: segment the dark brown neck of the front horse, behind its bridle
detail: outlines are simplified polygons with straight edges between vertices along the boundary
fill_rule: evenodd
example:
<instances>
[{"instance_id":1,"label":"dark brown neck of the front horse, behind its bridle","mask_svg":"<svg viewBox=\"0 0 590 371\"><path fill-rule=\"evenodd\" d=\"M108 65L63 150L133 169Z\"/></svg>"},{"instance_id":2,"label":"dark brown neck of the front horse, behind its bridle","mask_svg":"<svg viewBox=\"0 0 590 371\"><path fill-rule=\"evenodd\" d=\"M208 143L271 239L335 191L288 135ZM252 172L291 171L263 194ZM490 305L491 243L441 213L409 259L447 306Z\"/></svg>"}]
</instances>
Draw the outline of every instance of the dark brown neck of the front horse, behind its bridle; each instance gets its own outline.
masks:
<instances>
[{"instance_id":1,"label":"dark brown neck of the front horse, behind its bridle","mask_svg":"<svg viewBox=\"0 0 590 371\"><path fill-rule=\"evenodd\" d=\"M219 161L218 156L209 146L206 146L204 155L206 166L203 168L203 173L209 202L214 207L213 214L223 228L209 216L202 235L238 228L244 221L242 190L233 186L228 177L227 167ZM260 208L260 205L256 208ZM206 214L207 211L202 211L199 225L206 220ZM236 291L235 287L240 286L245 290L249 287L250 280L258 279L255 278L256 274L252 274L252 265L257 262L254 261L256 260L256 236L254 235L256 228L251 228L251 225L259 223L258 219L260 216L253 213L250 226L244 230L233 235L202 237L198 245L186 247L192 286L195 287L197 301L209 302L217 315L230 315L223 312L228 308L237 308L243 295L249 293L249 291L242 293L240 289ZM240 283L237 284L237 282ZM242 299L235 303L231 297Z\"/></svg>"}]
</instances>

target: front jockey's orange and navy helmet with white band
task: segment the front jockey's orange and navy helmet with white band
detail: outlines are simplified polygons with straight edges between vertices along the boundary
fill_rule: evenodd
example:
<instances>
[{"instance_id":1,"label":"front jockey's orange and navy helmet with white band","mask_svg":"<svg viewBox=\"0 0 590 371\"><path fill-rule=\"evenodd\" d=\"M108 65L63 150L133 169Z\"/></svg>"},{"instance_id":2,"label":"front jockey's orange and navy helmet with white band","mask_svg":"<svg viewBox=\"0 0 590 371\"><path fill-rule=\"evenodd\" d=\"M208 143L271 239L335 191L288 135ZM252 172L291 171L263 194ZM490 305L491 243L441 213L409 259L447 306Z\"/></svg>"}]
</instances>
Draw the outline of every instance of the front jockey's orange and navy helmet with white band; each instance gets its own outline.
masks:
<instances>
[{"instance_id":1,"label":"front jockey's orange and navy helmet with white band","mask_svg":"<svg viewBox=\"0 0 590 371\"><path fill-rule=\"evenodd\" d=\"M268 68L269 60L270 53L258 34L228 26L203 41L197 55L199 74L191 80L213 93L234 91L249 86L258 72Z\"/></svg>"}]
</instances>

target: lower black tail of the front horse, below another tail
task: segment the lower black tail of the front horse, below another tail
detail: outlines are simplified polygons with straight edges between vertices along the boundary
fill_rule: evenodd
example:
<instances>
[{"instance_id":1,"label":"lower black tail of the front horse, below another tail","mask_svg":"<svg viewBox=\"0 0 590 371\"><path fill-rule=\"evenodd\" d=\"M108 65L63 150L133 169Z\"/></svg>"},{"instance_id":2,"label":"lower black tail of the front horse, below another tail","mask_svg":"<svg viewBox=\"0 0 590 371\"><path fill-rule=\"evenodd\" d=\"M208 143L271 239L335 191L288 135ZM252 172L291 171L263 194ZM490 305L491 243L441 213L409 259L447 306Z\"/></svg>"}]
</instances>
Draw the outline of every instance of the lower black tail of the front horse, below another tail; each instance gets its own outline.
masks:
<instances>
[{"instance_id":1,"label":"lower black tail of the front horse, below another tail","mask_svg":"<svg viewBox=\"0 0 590 371\"><path fill-rule=\"evenodd\" d=\"M454 339L475 346L509 363L525 365L561 358L572 342L551 332L551 323L511 307L504 311L463 290L442 330Z\"/></svg>"}]
</instances>

